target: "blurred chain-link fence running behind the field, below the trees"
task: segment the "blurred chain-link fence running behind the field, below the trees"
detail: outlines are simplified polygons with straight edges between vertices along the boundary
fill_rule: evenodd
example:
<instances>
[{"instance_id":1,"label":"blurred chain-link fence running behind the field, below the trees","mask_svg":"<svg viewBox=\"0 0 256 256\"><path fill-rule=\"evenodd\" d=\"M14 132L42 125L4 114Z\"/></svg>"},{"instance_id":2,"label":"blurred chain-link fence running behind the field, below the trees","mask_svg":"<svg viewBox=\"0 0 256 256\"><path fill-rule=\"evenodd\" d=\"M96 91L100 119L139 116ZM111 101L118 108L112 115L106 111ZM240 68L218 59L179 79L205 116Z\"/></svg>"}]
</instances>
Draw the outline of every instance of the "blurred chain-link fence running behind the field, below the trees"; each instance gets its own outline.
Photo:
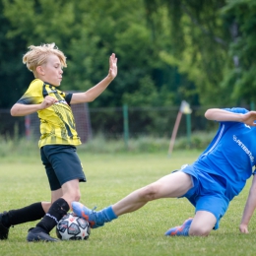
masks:
<instances>
[{"instance_id":1,"label":"blurred chain-link fence running behind the field, below the trees","mask_svg":"<svg viewBox=\"0 0 256 256\"><path fill-rule=\"evenodd\" d=\"M191 107L192 113L188 119L183 114L177 136L191 132L212 130L213 122L207 122L204 117L206 108ZM102 134L107 139L115 139L128 133L130 138L140 136L170 137L177 118L179 107L128 107L127 117L124 107L90 108L87 104L72 106L76 126L83 142ZM125 120L126 119L126 120ZM10 109L0 109L0 134L13 137L19 135L39 137L39 120L37 114L26 117L13 117ZM124 129L126 121L127 129ZM211 125L211 126L210 126Z\"/></svg>"}]
</instances>

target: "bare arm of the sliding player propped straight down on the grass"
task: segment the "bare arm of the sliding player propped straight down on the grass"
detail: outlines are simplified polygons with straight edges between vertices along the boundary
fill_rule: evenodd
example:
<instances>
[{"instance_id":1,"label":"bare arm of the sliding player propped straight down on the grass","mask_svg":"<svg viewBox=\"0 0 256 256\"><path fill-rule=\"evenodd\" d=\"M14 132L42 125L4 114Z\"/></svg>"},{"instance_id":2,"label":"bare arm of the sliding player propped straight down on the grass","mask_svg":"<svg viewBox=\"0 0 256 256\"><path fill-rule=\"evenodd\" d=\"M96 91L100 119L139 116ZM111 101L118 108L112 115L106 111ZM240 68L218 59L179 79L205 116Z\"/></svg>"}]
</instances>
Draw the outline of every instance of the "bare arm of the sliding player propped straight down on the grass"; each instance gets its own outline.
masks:
<instances>
[{"instance_id":1,"label":"bare arm of the sliding player propped straight down on the grass","mask_svg":"<svg viewBox=\"0 0 256 256\"><path fill-rule=\"evenodd\" d=\"M248 224L256 208L256 176L253 176L250 192L243 210L239 229L242 233L248 233Z\"/></svg>"}]
</instances>

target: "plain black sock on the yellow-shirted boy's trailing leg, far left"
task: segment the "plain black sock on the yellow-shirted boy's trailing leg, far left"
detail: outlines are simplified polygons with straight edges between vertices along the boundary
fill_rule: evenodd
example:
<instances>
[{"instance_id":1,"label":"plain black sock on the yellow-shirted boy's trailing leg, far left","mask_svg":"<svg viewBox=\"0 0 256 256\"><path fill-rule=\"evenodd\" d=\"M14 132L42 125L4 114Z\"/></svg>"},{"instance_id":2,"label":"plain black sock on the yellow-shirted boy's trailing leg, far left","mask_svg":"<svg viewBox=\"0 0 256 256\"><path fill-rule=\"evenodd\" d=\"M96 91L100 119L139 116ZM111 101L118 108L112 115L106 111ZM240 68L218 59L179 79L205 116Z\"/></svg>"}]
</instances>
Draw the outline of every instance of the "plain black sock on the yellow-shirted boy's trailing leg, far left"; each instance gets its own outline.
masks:
<instances>
[{"instance_id":1,"label":"plain black sock on the yellow-shirted boy's trailing leg, far left","mask_svg":"<svg viewBox=\"0 0 256 256\"><path fill-rule=\"evenodd\" d=\"M45 213L41 206L41 202L38 202L21 209L10 210L9 212L4 213L2 221L6 227L9 227L15 224L24 224L39 220L44 215Z\"/></svg>"}]
</instances>

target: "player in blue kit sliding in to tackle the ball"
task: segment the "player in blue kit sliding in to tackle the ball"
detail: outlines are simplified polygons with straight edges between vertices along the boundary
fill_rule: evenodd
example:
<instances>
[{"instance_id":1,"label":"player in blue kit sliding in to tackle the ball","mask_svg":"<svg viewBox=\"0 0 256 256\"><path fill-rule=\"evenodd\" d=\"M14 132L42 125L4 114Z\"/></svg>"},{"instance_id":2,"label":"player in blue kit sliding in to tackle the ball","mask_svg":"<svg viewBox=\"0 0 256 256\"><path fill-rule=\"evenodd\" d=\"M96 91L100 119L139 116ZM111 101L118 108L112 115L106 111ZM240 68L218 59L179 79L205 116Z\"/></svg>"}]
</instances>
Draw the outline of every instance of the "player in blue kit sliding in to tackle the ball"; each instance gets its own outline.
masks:
<instances>
[{"instance_id":1,"label":"player in blue kit sliding in to tackle the ball","mask_svg":"<svg viewBox=\"0 0 256 256\"><path fill-rule=\"evenodd\" d=\"M198 160L183 165L180 170L132 192L99 212L73 202L74 213L96 228L140 209L149 201L185 197L195 207L194 218L168 229L165 235L206 236L212 229L217 229L229 202L241 192L256 163L256 111L211 108L205 117L219 121L220 128ZM251 191L253 189L256 189L255 178ZM248 232L247 226L255 207L256 194L250 192L240 224L241 232Z\"/></svg>"}]
</instances>

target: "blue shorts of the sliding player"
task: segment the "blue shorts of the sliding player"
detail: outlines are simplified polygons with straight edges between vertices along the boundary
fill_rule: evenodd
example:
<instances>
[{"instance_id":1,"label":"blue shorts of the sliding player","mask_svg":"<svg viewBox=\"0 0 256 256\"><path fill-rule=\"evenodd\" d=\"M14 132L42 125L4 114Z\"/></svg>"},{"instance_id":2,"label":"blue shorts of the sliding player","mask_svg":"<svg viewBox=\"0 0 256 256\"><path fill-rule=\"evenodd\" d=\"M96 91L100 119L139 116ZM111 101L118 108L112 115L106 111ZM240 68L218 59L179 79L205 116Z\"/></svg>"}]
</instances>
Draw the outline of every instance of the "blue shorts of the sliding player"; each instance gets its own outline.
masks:
<instances>
[{"instance_id":1,"label":"blue shorts of the sliding player","mask_svg":"<svg viewBox=\"0 0 256 256\"><path fill-rule=\"evenodd\" d=\"M214 229L218 229L229 205L229 200L225 196L223 177L196 169L193 165L187 165L180 171L191 175L193 182L193 187L182 197L186 197L190 201L196 208L195 212L212 213L217 220Z\"/></svg>"}]
</instances>

